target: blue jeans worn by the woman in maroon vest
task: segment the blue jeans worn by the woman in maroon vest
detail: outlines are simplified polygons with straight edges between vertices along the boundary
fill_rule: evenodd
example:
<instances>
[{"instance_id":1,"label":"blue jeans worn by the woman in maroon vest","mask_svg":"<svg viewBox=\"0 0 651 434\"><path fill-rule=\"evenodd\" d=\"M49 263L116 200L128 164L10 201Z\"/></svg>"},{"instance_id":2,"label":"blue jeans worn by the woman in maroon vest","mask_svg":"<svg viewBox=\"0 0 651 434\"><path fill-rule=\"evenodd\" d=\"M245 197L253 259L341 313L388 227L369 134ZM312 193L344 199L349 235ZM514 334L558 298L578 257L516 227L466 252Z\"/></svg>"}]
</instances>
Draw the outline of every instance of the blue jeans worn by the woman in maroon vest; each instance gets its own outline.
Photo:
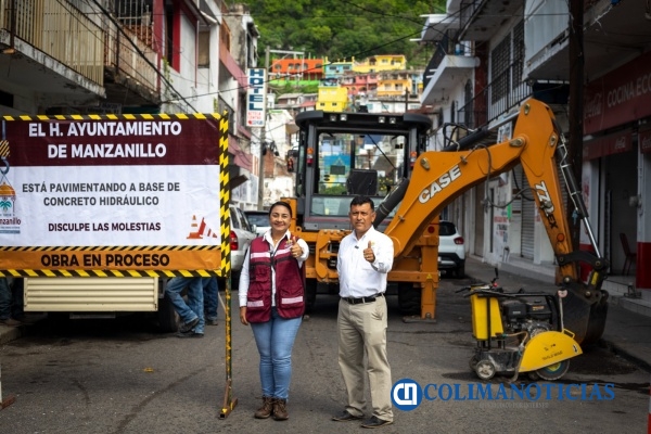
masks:
<instances>
[{"instance_id":1,"label":"blue jeans worn by the woman in maroon vest","mask_svg":"<svg viewBox=\"0 0 651 434\"><path fill-rule=\"evenodd\" d=\"M288 399L292 380L292 347L302 319L281 318L272 307L269 321L251 323L260 354L263 396Z\"/></svg>"}]
</instances>

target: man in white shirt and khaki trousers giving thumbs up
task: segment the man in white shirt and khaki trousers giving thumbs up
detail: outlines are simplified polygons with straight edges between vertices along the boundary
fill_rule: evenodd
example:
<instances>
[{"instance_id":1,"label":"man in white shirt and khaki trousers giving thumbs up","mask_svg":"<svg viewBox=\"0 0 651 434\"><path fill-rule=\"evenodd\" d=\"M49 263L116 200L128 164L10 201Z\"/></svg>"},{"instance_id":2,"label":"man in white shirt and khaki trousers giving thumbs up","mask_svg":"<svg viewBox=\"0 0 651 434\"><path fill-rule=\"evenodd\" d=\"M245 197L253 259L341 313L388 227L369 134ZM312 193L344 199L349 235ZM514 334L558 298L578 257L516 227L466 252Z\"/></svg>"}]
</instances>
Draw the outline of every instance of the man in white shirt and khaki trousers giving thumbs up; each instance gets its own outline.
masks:
<instances>
[{"instance_id":1,"label":"man in white shirt and khaki trousers giving thumbs up","mask_svg":"<svg viewBox=\"0 0 651 434\"><path fill-rule=\"evenodd\" d=\"M340 279L339 363L348 394L344 411L332 418L345 422L365 416L365 375L371 390L370 419L363 427L393 423L391 367L386 356L386 275L393 266L393 242L373 228L375 209L368 196L350 202L353 232L346 235L337 254ZM367 367L363 355L367 354Z\"/></svg>"}]
</instances>

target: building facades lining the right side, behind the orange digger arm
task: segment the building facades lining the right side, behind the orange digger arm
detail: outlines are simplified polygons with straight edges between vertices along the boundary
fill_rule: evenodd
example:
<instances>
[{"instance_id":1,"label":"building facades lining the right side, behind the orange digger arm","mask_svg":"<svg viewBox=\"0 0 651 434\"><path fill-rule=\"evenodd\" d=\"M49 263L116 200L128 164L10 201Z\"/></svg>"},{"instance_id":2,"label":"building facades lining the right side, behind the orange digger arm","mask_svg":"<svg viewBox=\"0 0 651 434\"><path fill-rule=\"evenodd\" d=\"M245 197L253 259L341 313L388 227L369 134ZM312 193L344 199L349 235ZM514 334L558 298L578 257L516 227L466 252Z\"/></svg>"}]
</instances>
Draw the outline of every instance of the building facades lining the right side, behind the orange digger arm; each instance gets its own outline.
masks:
<instances>
[{"instance_id":1,"label":"building facades lining the right side, behind the orange digger arm","mask_svg":"<svg viewBox=\"0 0 651 434\"><path fill-rule=\"evenodd\" d=\"M649 219L643 218L651 199L644 144L651 106L651 11L635 0L586 1L579 9L582 38L569 3L557 0L451 0L446 14L430 15L420 39L435 47L421 99L439 127L430 146L442 149L480 127L490 131L493 142L508 139L513 114L529 97L550 105L567 133L569 115L578 110L569 104L570 90L583 85L584 102L576 104L583 110L583 161L574 164L580 165L579 182L599 250L611 264L611 275L628 275L623 269L625 234L637 251L627 279L638 289L651 289L651 276L642 266L651 241ZM580 77L573 75L576 56L570 54L577 44ZM445 124L462 125L467 131L446 131ZM514 194L527 189L516 167L465 193L444 217L462 228L470 254L553 276L553 251L537 212L526 194ZM584 228L580 247L587 248L588 241Z\"/></svg>"}]
</instances>

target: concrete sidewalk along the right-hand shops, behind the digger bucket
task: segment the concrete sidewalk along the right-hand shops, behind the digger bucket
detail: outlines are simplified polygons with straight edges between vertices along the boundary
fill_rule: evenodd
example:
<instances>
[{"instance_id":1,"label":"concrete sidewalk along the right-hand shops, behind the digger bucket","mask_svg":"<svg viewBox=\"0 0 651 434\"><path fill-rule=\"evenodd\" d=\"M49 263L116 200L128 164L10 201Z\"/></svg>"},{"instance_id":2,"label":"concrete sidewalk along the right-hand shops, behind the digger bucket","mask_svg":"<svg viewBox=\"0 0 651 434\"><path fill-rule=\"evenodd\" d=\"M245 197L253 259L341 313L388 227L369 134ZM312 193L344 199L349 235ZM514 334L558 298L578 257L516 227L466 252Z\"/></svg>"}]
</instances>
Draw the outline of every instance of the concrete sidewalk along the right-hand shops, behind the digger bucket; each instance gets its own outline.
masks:
<instances>
[{"instance_id":1,"label":"concrete sidewalk along the right-hand shops, behind the digger bucket","mask_svg":"<svg viewBox=\"0 0 651 434\"><path fill-rule=\"evenodd\" d=\"M533 269L531 265L526 269L500 264L498 272L498 281L507 291L523 288L526 291L554 292L557 288L553 276ZM470 257L465 261L465 273L470 279L489 282L495 277L495 266ZM629 297L626 291L613 291L612 284L603 288L609 291L610 297L602 342L614 353L651 372L651 303Z\"/></svg>"}]
</instances>

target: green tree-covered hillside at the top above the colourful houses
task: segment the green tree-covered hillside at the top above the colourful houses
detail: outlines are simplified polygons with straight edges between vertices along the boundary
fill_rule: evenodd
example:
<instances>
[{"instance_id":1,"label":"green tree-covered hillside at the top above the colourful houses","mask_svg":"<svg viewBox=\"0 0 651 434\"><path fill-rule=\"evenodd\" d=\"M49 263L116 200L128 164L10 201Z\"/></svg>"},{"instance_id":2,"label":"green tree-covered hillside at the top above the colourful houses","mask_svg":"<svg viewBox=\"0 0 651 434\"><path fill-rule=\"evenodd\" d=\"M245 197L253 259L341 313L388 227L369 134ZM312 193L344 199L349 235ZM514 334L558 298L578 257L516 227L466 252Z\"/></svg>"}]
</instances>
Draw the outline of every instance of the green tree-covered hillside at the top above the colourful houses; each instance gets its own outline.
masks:
<instances>
[{"instance_id":1,"label":"green tree-covered hillside at the top above the colourful houses","mask_svg":"<svg viewBox=\"0 0 651 434\"><path fill-rule=\"evenodd\" d=\"M405 54L408 64L424 66L418 38L425 20L445 11L445 1L412 0L251 0L251 14L265 48L304 51L311 58L365 59L373 54ZM418 64L417 64L418 63Z\"/></svg>"}]
</instances>

